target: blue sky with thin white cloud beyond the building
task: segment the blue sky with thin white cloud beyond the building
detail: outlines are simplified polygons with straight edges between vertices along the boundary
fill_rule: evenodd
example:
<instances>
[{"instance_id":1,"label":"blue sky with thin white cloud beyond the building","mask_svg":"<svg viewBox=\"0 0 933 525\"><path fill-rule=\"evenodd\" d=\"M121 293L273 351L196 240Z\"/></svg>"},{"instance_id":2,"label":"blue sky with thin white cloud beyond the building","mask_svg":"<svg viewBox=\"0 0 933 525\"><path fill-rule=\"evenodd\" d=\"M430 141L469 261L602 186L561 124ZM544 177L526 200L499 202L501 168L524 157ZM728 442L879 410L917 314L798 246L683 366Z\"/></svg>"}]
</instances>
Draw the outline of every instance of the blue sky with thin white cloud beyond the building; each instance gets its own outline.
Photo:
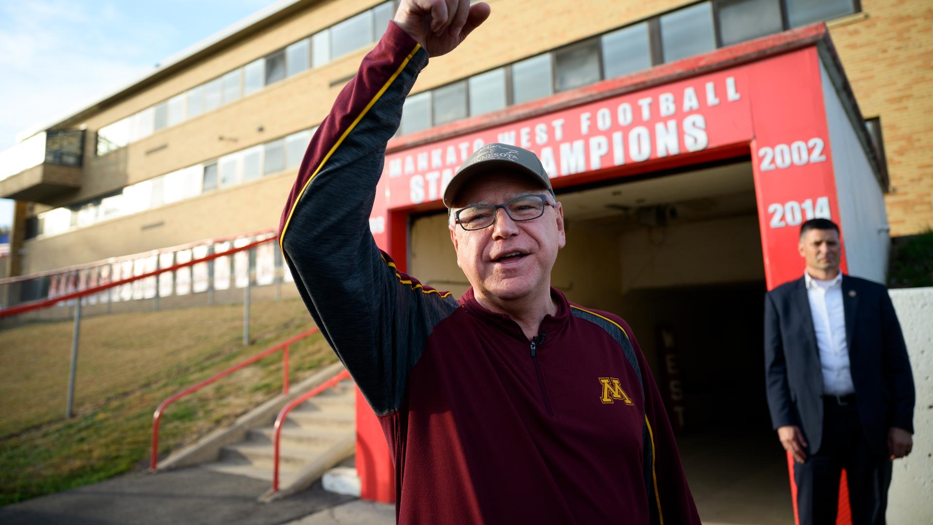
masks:
<instances>
[{"instance_id":1,"label":"blue sky with thin white cloud beyond the building","mask_svg":"<svg viewBox=\"0 0 933 525\"><path fill-rule=\"evenodd\" d=\"M275 0L0 0L0 150ZM12 218L0 199L0 228Z\"/></svg>"}]
</instances>

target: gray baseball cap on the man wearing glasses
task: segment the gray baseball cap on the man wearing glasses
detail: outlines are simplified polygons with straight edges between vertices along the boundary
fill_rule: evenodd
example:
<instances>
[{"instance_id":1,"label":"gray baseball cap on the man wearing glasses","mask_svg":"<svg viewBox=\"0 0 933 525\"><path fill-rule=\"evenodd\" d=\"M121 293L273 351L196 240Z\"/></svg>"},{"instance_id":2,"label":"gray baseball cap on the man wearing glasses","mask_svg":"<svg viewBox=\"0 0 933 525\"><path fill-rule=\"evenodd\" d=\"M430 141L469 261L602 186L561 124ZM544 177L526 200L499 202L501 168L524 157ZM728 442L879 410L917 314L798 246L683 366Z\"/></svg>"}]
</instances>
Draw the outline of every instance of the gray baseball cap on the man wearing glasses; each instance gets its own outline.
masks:
<instances>
[{"instance_id":1,"label":"gray baseball cap on the man wearing glasses","mask_svg":"<svg viewBox=\"0 0 933 525\"><path fill-rule=\"evenodd\" d=\"M460 166L444 190L444 206L453 207L454 197L471 178L493 170L525 174L540 182L551 195L554 194L553 188L550 187L550 177L536 154L518 146L492 142L477 149Z\"/></svg>"}]
</instances>

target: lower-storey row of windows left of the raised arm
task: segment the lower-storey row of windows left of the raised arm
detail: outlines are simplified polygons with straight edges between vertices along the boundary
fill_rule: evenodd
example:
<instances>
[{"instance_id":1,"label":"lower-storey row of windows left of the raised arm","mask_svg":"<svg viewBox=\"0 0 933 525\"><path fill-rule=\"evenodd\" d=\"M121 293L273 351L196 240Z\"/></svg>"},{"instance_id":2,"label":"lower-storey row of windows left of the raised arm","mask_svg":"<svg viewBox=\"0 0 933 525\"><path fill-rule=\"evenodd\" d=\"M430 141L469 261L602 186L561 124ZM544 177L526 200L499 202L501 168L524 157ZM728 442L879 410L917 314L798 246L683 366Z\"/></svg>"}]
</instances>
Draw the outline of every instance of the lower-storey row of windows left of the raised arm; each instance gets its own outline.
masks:
<instances>
[{"instance_id":1,"label":"lower-storey row of windows left of the raised arm","mask_svg":"<svg viewBox=\"0 0 933 525\"><path fill-rule=\"evenodd\" d=\"M27 238L63 234L147 209L228 188L259 177L296 169L316 128L287 135L265 144L234 151L207 163L152 177L89 202L40 213L27 225Z\"/></svg>"}]
</instances>

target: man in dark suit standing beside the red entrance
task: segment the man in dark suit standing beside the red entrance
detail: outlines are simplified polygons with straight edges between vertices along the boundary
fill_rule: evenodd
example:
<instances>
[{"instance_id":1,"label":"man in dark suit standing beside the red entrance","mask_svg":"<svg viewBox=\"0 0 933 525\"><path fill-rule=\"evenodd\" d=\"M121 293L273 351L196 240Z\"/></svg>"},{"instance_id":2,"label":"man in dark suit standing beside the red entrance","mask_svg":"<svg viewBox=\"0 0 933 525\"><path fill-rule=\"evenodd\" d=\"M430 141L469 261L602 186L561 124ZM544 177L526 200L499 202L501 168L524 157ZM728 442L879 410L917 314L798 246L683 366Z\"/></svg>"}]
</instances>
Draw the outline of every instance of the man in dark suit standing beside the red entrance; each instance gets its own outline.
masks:
<instances>
[{"instance_id":1,"label":"man in dark suit standing beside the red entrance","mask_svg":"<svg viewBox=\"0 0 933 525\"><path fill-rule=\"evenodd\" d=\"M801 525L834 524L841 469L854 524L884 523L891 461L911 452L913 378L884 285L840 273L839 227L807 220L803 277L765 295L774 429L794 457Z\"/></svg>"}]
</instances>

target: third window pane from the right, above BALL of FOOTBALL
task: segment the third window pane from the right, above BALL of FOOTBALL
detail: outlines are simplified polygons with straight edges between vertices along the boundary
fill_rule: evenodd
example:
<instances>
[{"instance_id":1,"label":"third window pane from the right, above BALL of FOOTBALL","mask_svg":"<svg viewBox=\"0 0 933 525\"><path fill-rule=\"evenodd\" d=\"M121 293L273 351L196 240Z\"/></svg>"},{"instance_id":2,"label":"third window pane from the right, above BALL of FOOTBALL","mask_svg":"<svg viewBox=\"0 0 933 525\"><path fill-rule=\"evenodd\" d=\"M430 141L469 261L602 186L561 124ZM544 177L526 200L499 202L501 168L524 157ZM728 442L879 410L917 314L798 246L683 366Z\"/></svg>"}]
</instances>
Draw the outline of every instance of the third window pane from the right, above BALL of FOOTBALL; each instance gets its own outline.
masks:
<instances>
[{"instance_id":1,"label":"third window pane from the right, above BALL of FOOTBALL","mask_svg":"<svg viewBox=\"0 0 933 525\"><path fill-rule=\"evenodd\" d=\"M661 15L664 62L674 62L716 49L713 10L709 2Z\"/></svg>"}]
</instances>

